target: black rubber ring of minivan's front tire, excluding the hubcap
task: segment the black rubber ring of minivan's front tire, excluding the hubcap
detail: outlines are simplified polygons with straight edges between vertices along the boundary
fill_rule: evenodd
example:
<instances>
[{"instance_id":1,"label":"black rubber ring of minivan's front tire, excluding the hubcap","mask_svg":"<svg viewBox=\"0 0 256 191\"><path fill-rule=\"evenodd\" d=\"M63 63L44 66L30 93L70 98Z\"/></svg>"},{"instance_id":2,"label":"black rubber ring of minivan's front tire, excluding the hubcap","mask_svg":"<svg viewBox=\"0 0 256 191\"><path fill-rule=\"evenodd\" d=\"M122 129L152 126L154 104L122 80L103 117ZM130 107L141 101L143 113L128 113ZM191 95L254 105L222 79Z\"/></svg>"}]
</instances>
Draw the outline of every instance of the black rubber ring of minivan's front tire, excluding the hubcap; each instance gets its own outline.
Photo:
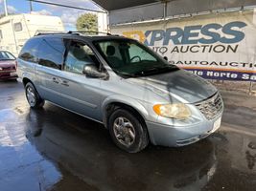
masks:
<instances>
[{"instance_id":1,"label":"black rubber ring of minivan's front tire, excluding the hubcap","mask_svg":"<svg viewBox=\"0 0 256 191\"><path fill-rule=\"evenodd\" d=\"M134 127L135 141L129 147L123 145L115 137L114 130L113 130L113 123L114 123L115 119L118 117L126 117L132 123L132 125ZM146 144L146 146L148 144L148 139L146 139L148 137L145 136L145 134L147 134L147 132L145 132L145 131L147 131L147 130L144 128L144 126L140 122L140 120L138 120L136 117L134 117L133 114L128 112L127 110L117 109L110 115L109 120L108 120L108 130L109 130L110 136L113 139L114 143L119 148L127 151L128 153L137 153L145 147L145 144Z\"/></svg>"}]
</instances>

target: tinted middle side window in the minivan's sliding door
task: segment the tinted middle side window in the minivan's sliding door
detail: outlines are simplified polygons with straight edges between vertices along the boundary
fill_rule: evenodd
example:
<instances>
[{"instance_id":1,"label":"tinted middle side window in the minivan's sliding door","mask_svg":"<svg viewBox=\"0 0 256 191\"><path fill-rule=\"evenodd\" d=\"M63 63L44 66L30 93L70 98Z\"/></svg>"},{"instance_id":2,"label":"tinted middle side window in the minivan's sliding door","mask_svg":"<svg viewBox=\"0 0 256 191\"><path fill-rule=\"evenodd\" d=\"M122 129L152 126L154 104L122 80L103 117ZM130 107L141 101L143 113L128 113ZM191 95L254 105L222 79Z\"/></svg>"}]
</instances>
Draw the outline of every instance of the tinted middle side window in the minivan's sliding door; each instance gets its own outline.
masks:
<instances>
[{"instance_id":1,"label":"tinted middle side window in the minivan's sliding door","mask_svg":"<svg viewBox=\"0 0 256 191\"><path fill-rule=\"evenodd\" d=\"M42 66L61 69L65 46L61 38L44 38L39 47L39 64Z\"/></svg>"}]
</instances>

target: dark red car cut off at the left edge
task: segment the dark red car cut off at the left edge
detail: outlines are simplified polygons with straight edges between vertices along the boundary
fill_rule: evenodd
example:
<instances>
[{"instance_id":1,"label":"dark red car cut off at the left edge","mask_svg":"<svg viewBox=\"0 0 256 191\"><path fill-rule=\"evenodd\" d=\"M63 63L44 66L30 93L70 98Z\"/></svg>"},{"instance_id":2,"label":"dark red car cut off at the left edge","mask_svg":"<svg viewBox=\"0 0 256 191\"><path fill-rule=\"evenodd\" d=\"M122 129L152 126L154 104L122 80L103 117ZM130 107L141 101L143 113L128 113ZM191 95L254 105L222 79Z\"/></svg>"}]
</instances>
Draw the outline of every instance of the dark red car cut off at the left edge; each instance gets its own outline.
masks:
<instances>
[{"instance_id":1,"label":"dark red car cut off at the left edge","mask_svg":"<svg viewBox=\"0 0 256 191\"><path fill-rule=\"evenodd\" d=\"M0 79L15 79L16 74L15 56L7 51L0 51Z\"/></svg>"}]
</instances>

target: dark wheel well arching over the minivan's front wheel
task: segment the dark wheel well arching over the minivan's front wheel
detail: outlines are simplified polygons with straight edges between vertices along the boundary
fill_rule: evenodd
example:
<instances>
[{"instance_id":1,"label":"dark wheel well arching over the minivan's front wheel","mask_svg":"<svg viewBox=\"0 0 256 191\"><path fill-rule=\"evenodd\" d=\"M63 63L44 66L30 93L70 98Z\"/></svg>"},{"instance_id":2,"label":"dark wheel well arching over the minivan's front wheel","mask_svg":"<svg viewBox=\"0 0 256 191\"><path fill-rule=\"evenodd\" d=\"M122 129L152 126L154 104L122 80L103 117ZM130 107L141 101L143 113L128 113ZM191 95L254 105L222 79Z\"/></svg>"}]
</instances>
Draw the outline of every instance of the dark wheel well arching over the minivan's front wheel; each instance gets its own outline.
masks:
<instances>
[{"instance_id":1,"label":"dark wheel well arching over the minivan's front wheel","mask_svg":"<svg viewBox=\"0 0 256 191\"><path fill-rule=\"evenodd\" d=\"M106 128L107 128L107 122L108 122L107 120L108 120L109 116L115 110L117 110L119 108L128 110L130 113L132 113L134 115L134 117L137 117L137 119L147 128L147 125L146 125L146 122L145 122L145 118L136 109L134 109L133 107L129 106L128 104L120 103L120 102L112 102L112 103L109 103L105 107L104 124L105 124Z\"/></svg>"}]
</instances>

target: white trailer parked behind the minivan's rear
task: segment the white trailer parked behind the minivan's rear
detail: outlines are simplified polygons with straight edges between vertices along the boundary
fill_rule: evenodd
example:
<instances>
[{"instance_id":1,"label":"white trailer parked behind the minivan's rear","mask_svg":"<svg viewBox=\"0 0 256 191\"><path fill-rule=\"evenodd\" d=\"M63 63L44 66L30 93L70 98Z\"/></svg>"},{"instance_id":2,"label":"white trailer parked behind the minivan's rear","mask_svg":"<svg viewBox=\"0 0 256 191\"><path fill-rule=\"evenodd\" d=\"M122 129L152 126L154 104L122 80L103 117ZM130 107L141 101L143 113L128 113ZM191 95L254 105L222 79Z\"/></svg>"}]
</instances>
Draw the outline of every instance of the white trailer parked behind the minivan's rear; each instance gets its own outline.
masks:
<instances>
[{"instance_id":1,"label":"white trailer parked behind the minivan's rear","mask_svg":"<svg viewBox=\"0 0 256 191\"><path fill-rule=\"evenodd\" d=\"M58 16L14 14L0 19L0 50L17 55L36 32L64 32Z\"/></svg>"}]
</instances>

